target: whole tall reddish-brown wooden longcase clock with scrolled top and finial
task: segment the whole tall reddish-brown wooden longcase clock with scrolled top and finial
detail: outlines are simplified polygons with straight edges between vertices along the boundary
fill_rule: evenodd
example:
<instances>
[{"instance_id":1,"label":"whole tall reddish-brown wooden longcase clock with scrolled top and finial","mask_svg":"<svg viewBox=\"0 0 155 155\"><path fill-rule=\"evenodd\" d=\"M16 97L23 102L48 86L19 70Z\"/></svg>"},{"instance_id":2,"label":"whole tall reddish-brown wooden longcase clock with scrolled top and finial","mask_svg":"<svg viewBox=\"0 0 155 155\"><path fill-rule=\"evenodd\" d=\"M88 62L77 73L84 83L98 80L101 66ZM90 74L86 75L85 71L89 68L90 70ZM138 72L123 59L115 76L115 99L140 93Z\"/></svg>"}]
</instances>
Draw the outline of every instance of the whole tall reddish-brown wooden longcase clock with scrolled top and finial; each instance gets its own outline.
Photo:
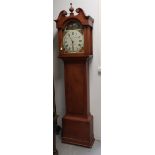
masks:
<instances>
[{"instance_id":1,"label":"whole tall reddish-brown wooden longcase clock with scrolled top and finial","mask_svg":"<svg viewBox=\"0 0 155 155\"><path fill-rule=\"evenodd\" d=\"M62 119L62 142L92 147L93 116L89 107L89 59L93 55L94 19L83 9L59 13L58 57L64 61L66 114Z\"/></svg>"}]
</instances>

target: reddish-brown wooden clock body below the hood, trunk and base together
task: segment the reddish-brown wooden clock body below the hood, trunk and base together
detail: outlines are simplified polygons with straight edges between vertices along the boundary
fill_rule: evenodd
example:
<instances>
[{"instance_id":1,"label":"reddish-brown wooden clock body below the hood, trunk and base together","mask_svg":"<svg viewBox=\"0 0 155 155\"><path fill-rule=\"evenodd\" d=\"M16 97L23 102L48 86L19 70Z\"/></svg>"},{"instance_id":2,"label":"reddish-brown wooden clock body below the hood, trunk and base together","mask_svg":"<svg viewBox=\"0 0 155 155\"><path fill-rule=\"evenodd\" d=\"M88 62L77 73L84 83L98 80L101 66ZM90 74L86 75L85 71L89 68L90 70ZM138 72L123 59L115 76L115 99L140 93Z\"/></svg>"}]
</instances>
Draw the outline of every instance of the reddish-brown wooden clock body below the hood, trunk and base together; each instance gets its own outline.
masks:
<instances>
[{"instance_id":1,"label":"reddish-brown wooden clock body below the hood, trunk and base together","mask_svg":"<svg viewBox=\"0 0 155 155\"><path fill-rule=\"evenodd\" d=\"M62 142L91 147L94 135L88 59L64 60L64 75L66 115L62 120Z\"/></svg>"}]
</instances>

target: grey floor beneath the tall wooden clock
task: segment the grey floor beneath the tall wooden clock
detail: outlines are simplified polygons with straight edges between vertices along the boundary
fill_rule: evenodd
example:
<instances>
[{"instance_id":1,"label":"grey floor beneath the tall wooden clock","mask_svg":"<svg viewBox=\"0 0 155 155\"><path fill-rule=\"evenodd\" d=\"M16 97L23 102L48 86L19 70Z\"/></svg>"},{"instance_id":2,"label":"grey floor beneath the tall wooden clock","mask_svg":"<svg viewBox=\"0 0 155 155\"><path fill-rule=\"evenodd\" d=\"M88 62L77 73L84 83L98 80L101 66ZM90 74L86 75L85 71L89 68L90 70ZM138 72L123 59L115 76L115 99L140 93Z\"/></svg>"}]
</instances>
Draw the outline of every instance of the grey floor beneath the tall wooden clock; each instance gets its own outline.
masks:
<instances>
[{"instance_id":1,"label":"grey floor beneath the tall wooden clock","mask_svg":"<svg viewBox=\"0 0 155 155\"><path fill-rule=\"evenodd\" d=\"M99 140L95 140L92 148L61 143L60 136L57 136L56 141L59 155L101 155L101 143Z\"/></svg>"}]
</instances>

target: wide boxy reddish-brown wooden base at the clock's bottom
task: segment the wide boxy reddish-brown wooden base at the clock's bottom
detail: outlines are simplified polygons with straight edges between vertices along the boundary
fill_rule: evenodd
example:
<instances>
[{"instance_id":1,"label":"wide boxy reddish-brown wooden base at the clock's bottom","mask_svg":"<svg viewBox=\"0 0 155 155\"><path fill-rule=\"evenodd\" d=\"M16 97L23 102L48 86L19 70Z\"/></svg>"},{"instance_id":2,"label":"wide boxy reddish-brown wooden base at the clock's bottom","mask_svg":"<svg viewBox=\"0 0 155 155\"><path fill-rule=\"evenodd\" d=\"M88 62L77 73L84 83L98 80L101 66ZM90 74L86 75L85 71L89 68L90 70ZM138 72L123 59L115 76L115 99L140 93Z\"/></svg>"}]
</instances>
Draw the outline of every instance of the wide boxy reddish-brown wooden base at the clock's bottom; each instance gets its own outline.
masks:
<instances>
[{"instance_id":1,"label":"wide boxy reddish-brown wooden base at the clock's bottom","mask_svg":"<svg viewBox=\"0 0 155 155\"><path fill-rule=\"evenodd\" d=\"M62 119L62 142L92 147L94 143L93 116L66 115Z\"/></svg>"}]
</instances>

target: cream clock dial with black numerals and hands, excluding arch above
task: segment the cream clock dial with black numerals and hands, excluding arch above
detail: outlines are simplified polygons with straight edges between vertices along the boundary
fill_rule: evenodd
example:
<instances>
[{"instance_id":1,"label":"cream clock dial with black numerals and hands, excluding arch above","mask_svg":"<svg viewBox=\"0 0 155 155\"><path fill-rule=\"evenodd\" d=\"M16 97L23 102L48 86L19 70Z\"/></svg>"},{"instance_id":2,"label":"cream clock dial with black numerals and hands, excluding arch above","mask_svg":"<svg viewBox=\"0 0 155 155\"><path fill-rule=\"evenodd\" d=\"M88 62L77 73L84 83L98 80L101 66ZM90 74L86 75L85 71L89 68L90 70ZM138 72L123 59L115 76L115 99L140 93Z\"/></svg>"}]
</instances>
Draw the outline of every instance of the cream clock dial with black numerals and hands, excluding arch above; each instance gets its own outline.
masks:
<instances>
[{"instance_id":1,"label":"cream clock dial with black numerals and hands, excluding arch above","mask_svg":"<svg viewBox=\"0 0 155 155\"><path fill-rule=\"evenodd\" d=\"M78 30L66 30L63 48L67 52L79 52L84 47L83 34Z\"/></svg>"}]
</instances>

